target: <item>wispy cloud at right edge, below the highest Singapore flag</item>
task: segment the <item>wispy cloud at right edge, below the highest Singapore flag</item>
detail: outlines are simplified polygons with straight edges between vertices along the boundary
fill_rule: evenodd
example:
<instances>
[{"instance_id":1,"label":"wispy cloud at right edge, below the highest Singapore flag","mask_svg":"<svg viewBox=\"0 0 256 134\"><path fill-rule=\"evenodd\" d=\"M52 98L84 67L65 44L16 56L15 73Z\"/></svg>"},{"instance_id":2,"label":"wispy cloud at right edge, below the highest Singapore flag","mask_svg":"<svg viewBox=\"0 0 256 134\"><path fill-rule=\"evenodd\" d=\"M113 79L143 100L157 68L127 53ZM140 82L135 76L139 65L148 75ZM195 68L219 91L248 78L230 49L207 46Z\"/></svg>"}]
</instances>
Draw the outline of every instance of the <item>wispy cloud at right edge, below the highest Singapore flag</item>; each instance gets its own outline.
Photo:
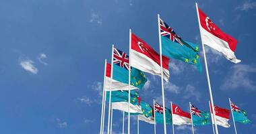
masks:
<instances>
[{"instance_id":1,"label":"wispy cloud at right edge, below the highest Singapore flag","mask_svg":"<svg viewBox=\"0 0 256 134\"><path fill-rule=\"evenodd\" d=\"M229 75L224 78L224 82L220 88L222 90L234 90L236 88L256 90L255 82L250 78L250 74L255 73L255 67L245 64L236 64L232 66Z\"/></svg>"}]
</instances>

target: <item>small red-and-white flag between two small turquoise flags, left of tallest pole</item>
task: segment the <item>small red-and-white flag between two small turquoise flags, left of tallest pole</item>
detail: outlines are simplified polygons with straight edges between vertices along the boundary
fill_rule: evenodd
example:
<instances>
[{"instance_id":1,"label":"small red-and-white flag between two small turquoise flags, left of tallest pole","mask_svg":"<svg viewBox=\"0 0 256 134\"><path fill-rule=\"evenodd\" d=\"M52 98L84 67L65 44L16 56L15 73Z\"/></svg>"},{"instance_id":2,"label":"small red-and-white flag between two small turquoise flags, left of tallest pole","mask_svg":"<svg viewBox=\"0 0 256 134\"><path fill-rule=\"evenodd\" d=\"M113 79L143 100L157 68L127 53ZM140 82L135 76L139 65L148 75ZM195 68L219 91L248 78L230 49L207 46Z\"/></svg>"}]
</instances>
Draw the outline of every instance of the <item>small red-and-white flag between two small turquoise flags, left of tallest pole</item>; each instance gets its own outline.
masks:
<instances>
[{"instance_id":1,"label":"small red-and-white flag between two small turquoise flags, left of tallest pole","mask_svg":"<svg viewBox=\"0 0 256 134\"><path fill-rule=\"evenodd\" d=\"M172 123L174 125L191 125L191 115L184 112L177 105L172 104Z\"/></svg>"}]
</instances>

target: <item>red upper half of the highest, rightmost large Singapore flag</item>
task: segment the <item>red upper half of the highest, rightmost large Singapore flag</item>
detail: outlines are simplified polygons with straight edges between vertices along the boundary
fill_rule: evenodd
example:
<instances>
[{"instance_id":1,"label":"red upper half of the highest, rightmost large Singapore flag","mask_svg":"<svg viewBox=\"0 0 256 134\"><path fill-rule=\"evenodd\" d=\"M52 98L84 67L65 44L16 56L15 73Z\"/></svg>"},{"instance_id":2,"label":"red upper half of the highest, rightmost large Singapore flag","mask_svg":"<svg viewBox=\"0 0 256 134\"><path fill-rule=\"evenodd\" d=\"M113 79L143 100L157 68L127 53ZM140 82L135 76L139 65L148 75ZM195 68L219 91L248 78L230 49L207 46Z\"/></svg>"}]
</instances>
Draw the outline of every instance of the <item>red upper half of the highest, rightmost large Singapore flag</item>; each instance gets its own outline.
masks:
<instances>
[{"instance_id":1,"label":"red upper half of the highest, rightmost large Singapore flag","mask_svg":"<svg viewBox=\"0 0 256 134\"><path fill-rule=\"evenodd\" d=\"M236 50L237 40L224 33L217 25L215 25L215 23L212 22L209 17L207 17L205 13L203 13L203 11L201 11L201 9L198 8L198 11L201 27L203 27L203 29L208 31L210 34L213 34L214 36L227 42L229 48L232 50L232 52L234 52Z\"/></svg>"}]
</instances>

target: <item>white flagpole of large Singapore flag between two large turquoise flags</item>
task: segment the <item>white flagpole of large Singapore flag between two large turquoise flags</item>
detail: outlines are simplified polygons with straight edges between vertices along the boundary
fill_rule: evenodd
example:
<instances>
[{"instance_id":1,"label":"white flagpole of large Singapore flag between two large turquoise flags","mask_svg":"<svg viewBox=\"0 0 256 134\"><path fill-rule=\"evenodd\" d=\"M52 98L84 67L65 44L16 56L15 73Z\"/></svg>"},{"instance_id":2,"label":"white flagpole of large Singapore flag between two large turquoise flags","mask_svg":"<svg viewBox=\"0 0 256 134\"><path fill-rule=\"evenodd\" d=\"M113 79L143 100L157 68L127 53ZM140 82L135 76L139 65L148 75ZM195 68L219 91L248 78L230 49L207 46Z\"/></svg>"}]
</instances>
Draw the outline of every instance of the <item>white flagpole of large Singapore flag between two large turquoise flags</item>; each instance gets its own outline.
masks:
<instances>
[{"instance_id":1,"label":"white flagpole of large Singapore flag between two large turquoise flags","mask_svg":"<svg viewBox=\"0 0 256 134\"><path fill-rule=\"evenodd\" d=\"M128 95L128 134L130 134L130 99L131 99L131 29L129 29L129 95Z\"/></svg>"}]
</instances>

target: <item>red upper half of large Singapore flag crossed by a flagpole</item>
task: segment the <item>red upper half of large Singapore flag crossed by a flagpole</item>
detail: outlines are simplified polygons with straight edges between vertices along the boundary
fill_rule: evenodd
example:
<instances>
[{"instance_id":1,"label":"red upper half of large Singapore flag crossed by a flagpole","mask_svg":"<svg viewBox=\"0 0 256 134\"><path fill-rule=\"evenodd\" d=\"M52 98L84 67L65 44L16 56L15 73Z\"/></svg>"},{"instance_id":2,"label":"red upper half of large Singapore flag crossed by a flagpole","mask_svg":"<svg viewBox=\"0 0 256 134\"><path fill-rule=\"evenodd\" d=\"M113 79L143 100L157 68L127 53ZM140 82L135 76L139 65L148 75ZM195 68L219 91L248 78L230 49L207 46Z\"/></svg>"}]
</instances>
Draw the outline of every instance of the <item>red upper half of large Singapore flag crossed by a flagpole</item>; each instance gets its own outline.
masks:
<instances>
[{"instance_id":1,"label":"red upper half of large Singapore flag crossed by a flagpole","mask_svg":"<svg viewBox=\"0 0 256 134\"><path fill-rule=\"evenodd\" d=\"M160 54L133 33L131 34L131 49L148 56L148 58L151 58L160 66ZM168 65L169 58L162 56L162 67L168 70Z\"/></svg>"}]
</instances>

